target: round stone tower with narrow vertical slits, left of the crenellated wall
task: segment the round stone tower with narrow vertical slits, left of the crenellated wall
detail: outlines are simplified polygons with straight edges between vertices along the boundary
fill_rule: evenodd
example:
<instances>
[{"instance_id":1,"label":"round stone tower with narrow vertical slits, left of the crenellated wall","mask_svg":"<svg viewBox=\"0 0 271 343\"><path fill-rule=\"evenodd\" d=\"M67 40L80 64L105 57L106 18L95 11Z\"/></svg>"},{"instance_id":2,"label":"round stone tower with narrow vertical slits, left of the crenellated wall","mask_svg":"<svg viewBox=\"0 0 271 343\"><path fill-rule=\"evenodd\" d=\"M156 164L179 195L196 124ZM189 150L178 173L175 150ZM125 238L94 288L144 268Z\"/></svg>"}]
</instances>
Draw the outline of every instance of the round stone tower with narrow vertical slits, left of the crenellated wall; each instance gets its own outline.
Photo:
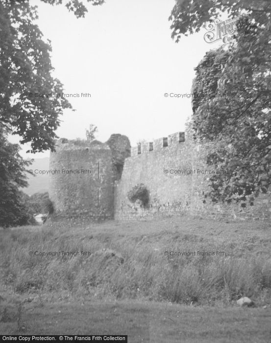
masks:
<instances>
[{"instance_id":1,"label":"round stone tower with narrow vertical slits, left of the crenellated wall","mask_svg":"<svg viewBox=\"0 0 271 343\"><path fill-rule=\"evenodd\" d=\"M59 140L56 152L50 155L50 170L60 171L50 175L49 185L56 215L113 218L115 179L110 147L98 141L87 145ZM79 173L63 173L62 170Z\"/></svg>"}]
</instances>

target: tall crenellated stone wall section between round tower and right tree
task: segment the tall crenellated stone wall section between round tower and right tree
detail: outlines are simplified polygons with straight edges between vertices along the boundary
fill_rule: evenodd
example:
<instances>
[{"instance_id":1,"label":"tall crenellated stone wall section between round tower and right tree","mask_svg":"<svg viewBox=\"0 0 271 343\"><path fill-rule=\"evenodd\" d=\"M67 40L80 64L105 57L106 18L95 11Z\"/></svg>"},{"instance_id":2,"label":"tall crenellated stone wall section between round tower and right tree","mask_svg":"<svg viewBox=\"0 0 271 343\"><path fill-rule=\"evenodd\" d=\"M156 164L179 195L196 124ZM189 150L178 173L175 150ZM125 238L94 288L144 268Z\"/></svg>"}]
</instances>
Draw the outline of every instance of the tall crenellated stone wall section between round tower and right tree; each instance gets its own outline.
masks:
<instances>
[{"instance_id":1,"label":"tall crenellated stone wall section between round tower and right tree","mask_svg":"<svg viewBox=\"0 0 271 343\"><path fill-rule=\"evenodd\" d=\"M179 139L179 137L183 139ZM149 144L132 148L131 157L124 163L123 175L115 189L115 219L153 218L157 215L181 214L191 208L200 211L202 203L199 197L193 197L197 182L203 182L204 176L177 174L175 171L194 170L197 151L184 142L184 133L176 133ZM199 163L197 163L199 167ZM171 173L174 171L174 173ZM139 202L131 203L127 193L137 184L143 183L149 191L149 207L142 208Z\"/></svg>"}]
</instances>

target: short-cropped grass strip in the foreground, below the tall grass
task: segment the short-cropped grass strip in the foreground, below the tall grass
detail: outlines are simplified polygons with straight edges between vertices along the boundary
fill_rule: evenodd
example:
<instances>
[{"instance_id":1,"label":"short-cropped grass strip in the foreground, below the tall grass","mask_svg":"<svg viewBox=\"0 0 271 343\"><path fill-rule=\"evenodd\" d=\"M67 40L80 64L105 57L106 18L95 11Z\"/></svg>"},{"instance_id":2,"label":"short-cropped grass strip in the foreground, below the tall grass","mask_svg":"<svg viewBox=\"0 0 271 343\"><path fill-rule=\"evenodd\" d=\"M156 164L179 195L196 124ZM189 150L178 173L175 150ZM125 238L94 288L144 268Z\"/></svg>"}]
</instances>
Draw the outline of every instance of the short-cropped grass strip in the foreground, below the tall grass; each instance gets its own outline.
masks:
<instances>
[{"instance_id":1,"label":"short-cropped grass strip in the foreground, below the tall grass","mask_svg":"<svg viewBox=\"0 0 271 343\"><path fill-rule=\"evenodd\" d=\"M1 334L128 335L129 343L268 343L271 310L136 301L26 304L9 307Z\"/></svg>"}]
</instances>

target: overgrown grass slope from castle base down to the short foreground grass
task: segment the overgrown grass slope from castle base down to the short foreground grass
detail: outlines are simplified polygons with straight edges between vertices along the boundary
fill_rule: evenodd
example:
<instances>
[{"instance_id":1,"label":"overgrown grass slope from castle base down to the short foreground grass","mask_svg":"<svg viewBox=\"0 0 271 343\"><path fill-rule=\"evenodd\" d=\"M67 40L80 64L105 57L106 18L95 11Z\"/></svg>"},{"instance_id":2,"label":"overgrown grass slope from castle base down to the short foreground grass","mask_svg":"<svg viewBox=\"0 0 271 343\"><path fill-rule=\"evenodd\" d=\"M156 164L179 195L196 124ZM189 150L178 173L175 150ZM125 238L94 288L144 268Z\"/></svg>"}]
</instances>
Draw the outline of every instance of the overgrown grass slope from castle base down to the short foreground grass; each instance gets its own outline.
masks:
<instances>
[{"instance_id":1,"label":"overgrown grass slope from castle base down to the short foreground grass","mask_svg":"<svg viewBox=\"0 0 271 343\"><path fill-rule=\"evenodd\" d=\"M0 232L0 290L210 305L230 304L246 295L257 305L270 303L268 223L172 218L88 226L47 223L36 230ZM30 251L60 254L30 256ZM78 251L79 256L62 251ZM165 251L195 251L196 256L166 256ZM197 251L224 251L226 256Z\"/></svg>"}]
</instances>

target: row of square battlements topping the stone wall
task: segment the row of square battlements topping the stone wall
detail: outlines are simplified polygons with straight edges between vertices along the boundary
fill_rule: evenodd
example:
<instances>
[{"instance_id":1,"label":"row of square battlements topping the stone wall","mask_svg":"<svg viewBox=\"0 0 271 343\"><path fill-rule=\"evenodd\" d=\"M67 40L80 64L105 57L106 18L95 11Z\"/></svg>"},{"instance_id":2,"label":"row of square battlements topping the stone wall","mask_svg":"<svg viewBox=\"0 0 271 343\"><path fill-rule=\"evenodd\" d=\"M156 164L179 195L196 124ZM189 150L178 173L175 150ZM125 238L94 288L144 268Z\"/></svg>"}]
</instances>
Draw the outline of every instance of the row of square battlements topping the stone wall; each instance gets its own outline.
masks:
<instances>
[{"instance_id":1,"label":"row of square battlements topping the stone wall","mask_svg":"<svg viewBox=\"0 0 271 343\"><path fill-rule=\"evenodd\" d=\"M185 141L184 132L172 133L168 137L155 139L153 142L140 142L137 147L131 147L131 156L137 156L151 151L160 151L165 147L176 146Z\"/></svg>"}]
</instances>

